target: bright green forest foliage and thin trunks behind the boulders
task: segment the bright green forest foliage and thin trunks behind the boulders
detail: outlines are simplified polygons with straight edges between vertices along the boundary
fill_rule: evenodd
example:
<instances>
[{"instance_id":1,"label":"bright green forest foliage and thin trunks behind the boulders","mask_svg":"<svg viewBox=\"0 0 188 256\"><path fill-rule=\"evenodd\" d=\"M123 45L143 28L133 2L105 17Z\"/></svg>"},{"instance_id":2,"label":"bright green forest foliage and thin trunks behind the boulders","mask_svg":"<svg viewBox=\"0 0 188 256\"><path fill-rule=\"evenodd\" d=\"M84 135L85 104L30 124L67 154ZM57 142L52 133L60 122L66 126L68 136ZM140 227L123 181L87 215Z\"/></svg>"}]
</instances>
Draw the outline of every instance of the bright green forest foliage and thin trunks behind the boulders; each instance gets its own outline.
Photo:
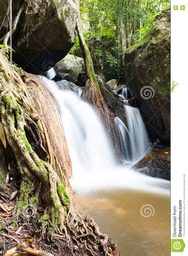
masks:
<instances>
[{"instance_id":1,"label":"bright green forest foliage and thin trunks behind the boulders","mask_svg":"<svg viewBox=\"0 0 188 256\"><path fill-rule=\"evenodd\" d=\"M123 80L125 50L150 34L154 17L169 0L81 0L84 37L96 72L108 65ZM81 57L77 39L71 54Z\"/></svg>"}]
</instances>

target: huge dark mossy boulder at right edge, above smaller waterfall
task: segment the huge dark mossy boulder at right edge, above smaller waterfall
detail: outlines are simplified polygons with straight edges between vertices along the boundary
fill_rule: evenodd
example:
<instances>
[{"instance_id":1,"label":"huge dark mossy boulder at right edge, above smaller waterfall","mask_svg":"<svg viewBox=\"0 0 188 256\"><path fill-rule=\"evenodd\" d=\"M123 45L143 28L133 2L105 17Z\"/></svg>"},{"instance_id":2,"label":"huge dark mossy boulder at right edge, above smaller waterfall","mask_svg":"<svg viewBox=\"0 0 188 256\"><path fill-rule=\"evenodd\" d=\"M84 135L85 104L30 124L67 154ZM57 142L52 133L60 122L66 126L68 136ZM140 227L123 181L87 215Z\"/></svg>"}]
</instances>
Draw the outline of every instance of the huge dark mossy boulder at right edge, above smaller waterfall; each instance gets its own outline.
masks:
<instances>
[{"instance_id":1,"label":"huge dark mossy boulder at right edge, above smaller waterfall","mask_svg":"<svg viewBox=\"0 0 188 256\"><path fill-rule=\"evenodd\" d=\"M153 21L150 36L125 52L125 77L152 140L170 142L170 7ZM148 88L148 94L145 91ZM145 93L144 93L145 92ZM154 136L153 136L154 135Z\"/></svg>"}]
</instances>

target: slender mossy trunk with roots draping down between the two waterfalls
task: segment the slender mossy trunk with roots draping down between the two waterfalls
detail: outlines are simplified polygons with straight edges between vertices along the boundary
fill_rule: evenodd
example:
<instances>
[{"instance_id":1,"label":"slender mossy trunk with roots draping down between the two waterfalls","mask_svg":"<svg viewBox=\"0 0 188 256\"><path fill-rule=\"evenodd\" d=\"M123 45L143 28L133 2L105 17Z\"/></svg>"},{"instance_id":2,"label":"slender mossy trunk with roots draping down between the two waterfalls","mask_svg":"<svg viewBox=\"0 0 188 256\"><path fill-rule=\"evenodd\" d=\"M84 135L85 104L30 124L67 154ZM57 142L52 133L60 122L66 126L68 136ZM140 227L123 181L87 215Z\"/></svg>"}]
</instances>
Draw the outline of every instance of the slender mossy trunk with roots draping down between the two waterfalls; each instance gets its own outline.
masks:
<instances>
[{"instance_id":1,"label":"slender mossy trunk with roots draping down between the two waterfalls","mask_svg":"<svg viewBox=\"0 0 188 256\"><path fill-rule=\"evenodd\" d=\"M90 55L90 51L86 45L83 35L80 11L79 11L79 0L74 0L75 4L78 8L78 16L77 16L77 34L79 37L79 43L82 50L82 55L85 62L85 69L87 75L87 81L85 88L82 93L82 98L88 101L92 106L96 109L98 116L100 117L102 123L106 127L109 138L111 139L111 143L114 148L114 156L118 162L123 162L123 156L121 154L121 146L119 140L119 134L117 131L117 127L115 125L114 116L109 110L104 101L100 90L100 80L97 80L94 72L93 62Z\"/></svg>"}]
</instances>

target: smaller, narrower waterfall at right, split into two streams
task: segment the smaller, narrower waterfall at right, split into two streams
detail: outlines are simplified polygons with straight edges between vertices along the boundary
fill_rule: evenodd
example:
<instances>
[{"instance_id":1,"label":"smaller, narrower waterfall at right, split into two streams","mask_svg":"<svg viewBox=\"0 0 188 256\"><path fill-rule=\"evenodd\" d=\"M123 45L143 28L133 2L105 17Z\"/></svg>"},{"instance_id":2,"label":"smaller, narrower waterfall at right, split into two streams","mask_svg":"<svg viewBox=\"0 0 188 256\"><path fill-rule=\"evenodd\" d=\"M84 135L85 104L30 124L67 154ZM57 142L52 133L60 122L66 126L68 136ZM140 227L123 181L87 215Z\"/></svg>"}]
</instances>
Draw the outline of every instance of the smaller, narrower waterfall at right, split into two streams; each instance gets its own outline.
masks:
<instances>
[{"instance_id":1,"label":"smaller, narrower waterfall at right, split into two streams","mask_svg":"<svg viewBox=\"0 0 188 256\"><path fill-rule=\"evenodd\" d=\"M128 101L127 88L123 88L119 96ZM119 132L121 152L127 165L131 166L145 155L149 147L149 137L138 107L125 105L124 108L128 127L118 117L115 117L115 123Z\"/></svg>"}]
</instances>

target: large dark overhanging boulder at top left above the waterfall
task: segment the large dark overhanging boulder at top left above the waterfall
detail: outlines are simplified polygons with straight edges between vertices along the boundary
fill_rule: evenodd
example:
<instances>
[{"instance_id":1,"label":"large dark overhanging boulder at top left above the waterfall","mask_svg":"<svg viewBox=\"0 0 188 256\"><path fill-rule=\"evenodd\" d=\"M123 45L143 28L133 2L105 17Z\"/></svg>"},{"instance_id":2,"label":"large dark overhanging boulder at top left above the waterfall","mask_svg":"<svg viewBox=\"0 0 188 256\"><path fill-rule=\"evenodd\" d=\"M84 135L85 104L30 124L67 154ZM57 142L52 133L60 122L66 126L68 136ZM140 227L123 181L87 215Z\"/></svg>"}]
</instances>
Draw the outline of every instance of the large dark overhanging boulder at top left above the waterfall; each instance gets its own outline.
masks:
<instances>
[{"instance_id":1,"label":"large dark overhanging boulder at top left above the waterfall","mask_svg":"<svg viewBox=\"0 0 188 256\"><path fill-rule=\"evenodd\" d=\"M13 20L23 1L13 1ZM33 0L13 33L13 61L33 74L43 74L63 59L75 43L77 8L72 0ZM8 0L0 4L0 38L7 30ZM4 18L5 17L5 18Z\"/></svg>"}]
</instances>

